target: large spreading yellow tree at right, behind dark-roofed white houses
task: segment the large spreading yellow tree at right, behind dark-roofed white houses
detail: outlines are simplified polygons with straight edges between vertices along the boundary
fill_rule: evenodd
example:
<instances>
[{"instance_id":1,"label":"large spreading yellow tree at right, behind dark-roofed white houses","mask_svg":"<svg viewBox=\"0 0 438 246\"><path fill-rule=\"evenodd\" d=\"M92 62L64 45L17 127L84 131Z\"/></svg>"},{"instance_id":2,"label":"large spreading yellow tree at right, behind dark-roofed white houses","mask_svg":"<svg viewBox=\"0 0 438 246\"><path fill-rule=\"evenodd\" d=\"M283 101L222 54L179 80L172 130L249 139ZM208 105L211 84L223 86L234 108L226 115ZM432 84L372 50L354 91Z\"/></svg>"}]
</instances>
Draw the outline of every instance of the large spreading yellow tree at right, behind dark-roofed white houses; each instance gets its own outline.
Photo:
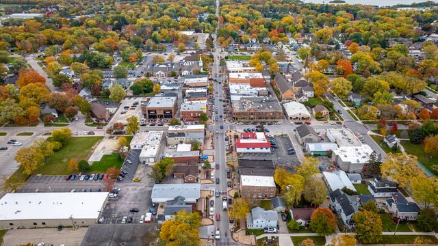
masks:
<instances>
[{"instance_id":1,"label":"large spreading yellow tree at right, behind dark-roofed white houses","mask_svg":"<svg viewBox=\"0 0 438 246\"><path fill-rule=\"evenodd\" d=\"M407 187L413 177L424 176L417 163L417 156L388 153L381 165L382 176L395 180L401 187Z\"/></svg>"}]
</instances>

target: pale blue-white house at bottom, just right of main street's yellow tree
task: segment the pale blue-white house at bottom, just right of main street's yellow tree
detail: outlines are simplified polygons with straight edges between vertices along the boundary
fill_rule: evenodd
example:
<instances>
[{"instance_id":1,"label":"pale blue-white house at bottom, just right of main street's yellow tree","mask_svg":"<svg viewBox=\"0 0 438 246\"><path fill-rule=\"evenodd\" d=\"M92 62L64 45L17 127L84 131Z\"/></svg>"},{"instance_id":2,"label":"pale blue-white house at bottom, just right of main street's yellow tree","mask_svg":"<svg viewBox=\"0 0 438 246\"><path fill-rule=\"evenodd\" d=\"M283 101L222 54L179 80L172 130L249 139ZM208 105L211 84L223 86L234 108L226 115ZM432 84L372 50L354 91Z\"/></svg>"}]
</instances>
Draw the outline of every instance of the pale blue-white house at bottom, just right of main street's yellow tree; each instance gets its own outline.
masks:
<instances>
[{"instance_id":1,"label":"pale blue-white house at bottom, just right of main street's yellow tree","mask_svg":"<svg viewBox=\"0 0 438 246\"><path fill-rule=\"evenodd\" d=\"M267 226L276 228L277 219L276 211L255 207L246 215L246 227L248 229L263 229Z\"/></svg>"}]
</instances>

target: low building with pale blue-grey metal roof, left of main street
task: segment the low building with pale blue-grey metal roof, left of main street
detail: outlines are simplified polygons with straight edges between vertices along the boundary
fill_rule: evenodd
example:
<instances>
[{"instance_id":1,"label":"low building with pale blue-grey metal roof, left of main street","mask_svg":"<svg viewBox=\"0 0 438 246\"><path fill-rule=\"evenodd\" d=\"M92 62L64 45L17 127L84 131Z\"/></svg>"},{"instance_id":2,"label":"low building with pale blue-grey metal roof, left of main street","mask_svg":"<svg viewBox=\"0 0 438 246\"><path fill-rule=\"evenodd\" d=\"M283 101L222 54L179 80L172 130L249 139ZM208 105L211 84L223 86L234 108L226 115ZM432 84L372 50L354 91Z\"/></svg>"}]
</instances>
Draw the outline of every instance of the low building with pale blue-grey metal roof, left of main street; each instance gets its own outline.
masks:
<instances>
[{"instance_id":1,"label":"low building with pale blue-grey metal roof, left of main street","mask_svg":"<svg viewBox=\"0 0 438 246\"><path fill-rule=\"evenodd\" d=\"M153 203L174 201L176 197L184 197L186 204L196 204L201 195L201 184L154 184L151 193Z\"/></svg>"}]
</instances>

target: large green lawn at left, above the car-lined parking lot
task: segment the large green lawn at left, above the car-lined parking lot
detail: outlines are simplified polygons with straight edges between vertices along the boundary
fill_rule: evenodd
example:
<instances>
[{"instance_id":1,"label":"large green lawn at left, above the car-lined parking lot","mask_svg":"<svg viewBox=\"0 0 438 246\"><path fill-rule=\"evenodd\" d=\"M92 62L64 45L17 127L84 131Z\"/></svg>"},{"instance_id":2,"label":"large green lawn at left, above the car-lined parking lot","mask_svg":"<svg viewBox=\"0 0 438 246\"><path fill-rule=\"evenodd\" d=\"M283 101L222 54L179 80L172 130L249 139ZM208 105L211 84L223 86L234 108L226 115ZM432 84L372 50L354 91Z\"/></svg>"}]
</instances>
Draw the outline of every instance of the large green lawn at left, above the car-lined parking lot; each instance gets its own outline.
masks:
<instances>
[{"instance_id":1,"label":"large green lawn at left, above the car-lined parking lot","mask_svg":"<svg viewBox=\"0 0 438 246\"><path fill-rule=\"evenodd\" d=\"M46 175L65 175L70 174L67 163L70 159L75 158L78 161L88 157L93 151L93 146L103 137L71 137L64 143L64 146L58 152L53 152L49 161L39 167L34 174Z\"/></svg>"}]
</instances>

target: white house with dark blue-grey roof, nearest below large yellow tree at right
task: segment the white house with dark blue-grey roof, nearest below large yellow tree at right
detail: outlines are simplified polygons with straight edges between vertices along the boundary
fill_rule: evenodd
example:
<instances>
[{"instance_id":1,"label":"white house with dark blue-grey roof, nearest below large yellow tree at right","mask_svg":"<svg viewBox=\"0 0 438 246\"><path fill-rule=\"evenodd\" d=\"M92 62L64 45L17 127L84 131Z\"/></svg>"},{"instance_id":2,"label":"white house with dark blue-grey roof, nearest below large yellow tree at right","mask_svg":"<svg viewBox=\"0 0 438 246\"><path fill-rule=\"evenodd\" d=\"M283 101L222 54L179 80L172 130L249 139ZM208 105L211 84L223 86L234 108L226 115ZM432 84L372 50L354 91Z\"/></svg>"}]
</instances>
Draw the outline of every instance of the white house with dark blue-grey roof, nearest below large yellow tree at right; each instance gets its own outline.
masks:
<instances>
[{"instance_id":1,"label":"white house with dark blue-grey roof, nearest below large yellow tree at right","mask_svg":"<svg viewBox=\"0 0 438 246\"><path fill-rule=\"evenodd\" d=\"M415 221L420 212L420 207L415 202L408 202L400 192L392 194L385 204L389 212L402 221Z\"/></svg>"}]
</instances>

